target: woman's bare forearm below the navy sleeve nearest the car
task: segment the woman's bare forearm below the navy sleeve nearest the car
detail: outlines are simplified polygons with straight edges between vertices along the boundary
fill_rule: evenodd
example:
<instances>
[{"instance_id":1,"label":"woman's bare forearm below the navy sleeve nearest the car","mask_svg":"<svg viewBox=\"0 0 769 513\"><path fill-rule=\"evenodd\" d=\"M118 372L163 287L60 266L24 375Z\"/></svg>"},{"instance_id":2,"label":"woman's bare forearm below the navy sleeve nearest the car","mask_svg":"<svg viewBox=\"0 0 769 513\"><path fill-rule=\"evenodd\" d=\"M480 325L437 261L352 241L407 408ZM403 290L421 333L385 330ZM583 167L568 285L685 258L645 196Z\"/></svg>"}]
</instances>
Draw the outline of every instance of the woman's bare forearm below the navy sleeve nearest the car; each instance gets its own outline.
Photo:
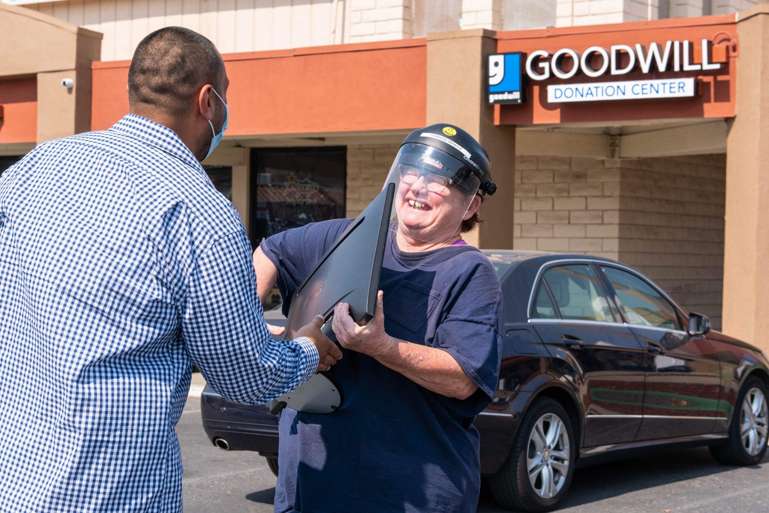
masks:
<instances>
[{"instance_id":1,"label":"woman's bare forearm below the navy sleeve nearest the car","mask_svg":"<svg viewBox=\"0 0 769 513\"><path fill-rule=\"evenodd\" d=\"M478 390L454 357L442 349L390 337L390 343L377 351L375 358L436 394L466 399Z\"/></svg>"}]
</instances>

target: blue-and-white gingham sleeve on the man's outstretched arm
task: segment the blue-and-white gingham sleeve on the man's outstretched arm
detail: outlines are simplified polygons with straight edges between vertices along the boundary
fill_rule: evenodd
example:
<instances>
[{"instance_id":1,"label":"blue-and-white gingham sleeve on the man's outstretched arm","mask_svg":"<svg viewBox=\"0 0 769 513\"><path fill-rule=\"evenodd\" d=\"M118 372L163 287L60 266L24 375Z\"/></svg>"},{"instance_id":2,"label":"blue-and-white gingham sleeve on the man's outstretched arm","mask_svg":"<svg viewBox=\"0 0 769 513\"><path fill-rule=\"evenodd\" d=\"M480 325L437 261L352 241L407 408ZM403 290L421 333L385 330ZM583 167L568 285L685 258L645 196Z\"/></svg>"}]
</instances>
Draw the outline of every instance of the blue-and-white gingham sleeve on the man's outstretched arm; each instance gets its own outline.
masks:
<instances>
[{"instance_id":1,"label":"blue-and-white gingham sleeve on the man's outstretched arm","mask_svg":"<svg viewBox=\"0 0 769 513\"><path fill-rule=\"evenodd\" d=\"M318 368L318 349L308 338L271 338L243 231L219 238L201 255L188 278L181 331L211 388L241 404L292 391Z\"/></svg>"}]
</instances>

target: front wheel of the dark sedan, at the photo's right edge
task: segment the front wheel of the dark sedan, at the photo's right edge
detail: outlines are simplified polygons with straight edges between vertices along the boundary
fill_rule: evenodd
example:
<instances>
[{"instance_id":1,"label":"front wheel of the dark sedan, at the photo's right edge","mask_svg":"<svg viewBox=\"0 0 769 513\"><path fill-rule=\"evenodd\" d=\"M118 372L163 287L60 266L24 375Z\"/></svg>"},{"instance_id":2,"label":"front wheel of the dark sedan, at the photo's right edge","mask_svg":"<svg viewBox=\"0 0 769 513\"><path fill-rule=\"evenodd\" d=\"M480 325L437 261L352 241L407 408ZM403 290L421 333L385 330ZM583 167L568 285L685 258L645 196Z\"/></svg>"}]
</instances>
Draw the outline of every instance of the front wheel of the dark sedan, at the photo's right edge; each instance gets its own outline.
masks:
<instances>
[{"instance_id":1,"label":"front wheel of the dark sedan, at the photo's right edge","mask_svg":"<svg viewBox=\"0 0 769 513\"><path fill-rule=\"evenodd\" d=\"M711 455L724 465L755 465L767 451L769 405L767 386L756 377L747 378L729 425L729 438L711 447Z\"/></svg>"}]
</instances>

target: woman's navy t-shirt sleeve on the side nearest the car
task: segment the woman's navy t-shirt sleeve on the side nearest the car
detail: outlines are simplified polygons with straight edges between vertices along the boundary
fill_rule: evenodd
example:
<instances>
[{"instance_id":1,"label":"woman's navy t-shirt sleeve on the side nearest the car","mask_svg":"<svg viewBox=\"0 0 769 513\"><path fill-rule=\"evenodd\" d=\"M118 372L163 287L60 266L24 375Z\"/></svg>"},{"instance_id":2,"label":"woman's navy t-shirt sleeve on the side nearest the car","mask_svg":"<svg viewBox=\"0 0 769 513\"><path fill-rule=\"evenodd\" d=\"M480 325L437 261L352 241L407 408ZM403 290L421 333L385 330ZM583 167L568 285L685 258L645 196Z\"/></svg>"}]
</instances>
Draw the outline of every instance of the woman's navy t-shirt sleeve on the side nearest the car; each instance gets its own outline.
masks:
<instances>
[{"instance_id":1,"label":"woman's navy t-shirt sleeve on the side nearest the car","mask_svg":"<svg viewBox=\"0 0 769 513\"><path fill-rule=\"evenodd\" d=\"M469 398L439 396L448 408L468 417L494 399L502 354L502 293L494 268L478 265L458 289L448 315L435 331L433 346L448 352L478 390Z\"/></svg>"}]
</instances>

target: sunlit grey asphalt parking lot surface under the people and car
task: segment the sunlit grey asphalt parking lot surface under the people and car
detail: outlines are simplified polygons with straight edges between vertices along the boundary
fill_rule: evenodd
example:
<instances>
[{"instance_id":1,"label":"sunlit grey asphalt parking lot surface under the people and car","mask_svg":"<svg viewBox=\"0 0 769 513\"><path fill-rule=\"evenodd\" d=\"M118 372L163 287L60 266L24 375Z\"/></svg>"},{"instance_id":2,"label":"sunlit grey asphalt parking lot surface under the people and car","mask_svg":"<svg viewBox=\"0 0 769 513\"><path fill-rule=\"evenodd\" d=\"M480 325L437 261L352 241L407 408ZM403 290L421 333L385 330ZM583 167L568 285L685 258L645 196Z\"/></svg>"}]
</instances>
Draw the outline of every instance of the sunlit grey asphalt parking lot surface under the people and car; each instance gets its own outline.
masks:
<instances>
[{"instance_id":1,"label":"sunlit grey asphalt parking lot surface under the people and car","mask_svg":"<svg viewBox=\"0 0 769 513\"><path fill-rule=\"evenodd\" d=\"M201 426L200 399L190 398L176 432L184 463L187 513L272 511L275 477L253 452L221 451ZM481 497L478 513L506 511ZM769 455L761 465L718 465L707 449L662 452L581 468L560 511L769 511Z\"/></svg>"}]
</instances>

